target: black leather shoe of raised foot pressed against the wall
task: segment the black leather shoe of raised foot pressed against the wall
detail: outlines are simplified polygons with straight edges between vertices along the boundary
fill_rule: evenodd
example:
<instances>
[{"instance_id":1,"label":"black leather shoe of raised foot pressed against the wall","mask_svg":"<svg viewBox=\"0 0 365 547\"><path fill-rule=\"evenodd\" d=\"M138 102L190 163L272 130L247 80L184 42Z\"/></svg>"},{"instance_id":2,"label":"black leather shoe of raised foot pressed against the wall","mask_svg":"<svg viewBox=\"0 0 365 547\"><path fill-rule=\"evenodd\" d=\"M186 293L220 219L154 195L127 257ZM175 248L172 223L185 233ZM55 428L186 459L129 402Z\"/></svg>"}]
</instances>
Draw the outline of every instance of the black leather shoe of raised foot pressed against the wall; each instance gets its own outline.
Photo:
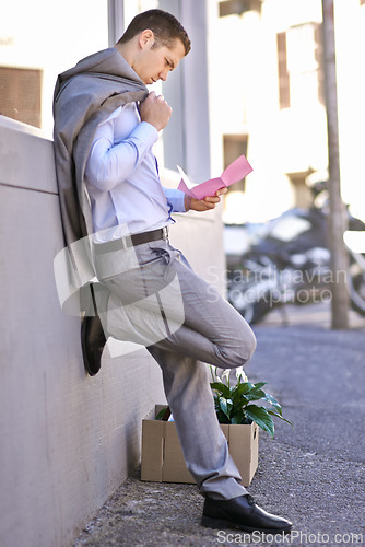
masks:
<instances>
[{"instance_id":1,"label":"black leather shoe of raised foot pressed against the wall","mask_svg":"<svg viewBox=\"0 0 365 547\"><path fill-rule=\"evenodd\" d=\"M102 366L102 354L106 338L97 314L94 289L91 286L95 315L85 315L81 324L81 347L84 366L91 376L95 376Z\"/></svg>"}]
</instances>

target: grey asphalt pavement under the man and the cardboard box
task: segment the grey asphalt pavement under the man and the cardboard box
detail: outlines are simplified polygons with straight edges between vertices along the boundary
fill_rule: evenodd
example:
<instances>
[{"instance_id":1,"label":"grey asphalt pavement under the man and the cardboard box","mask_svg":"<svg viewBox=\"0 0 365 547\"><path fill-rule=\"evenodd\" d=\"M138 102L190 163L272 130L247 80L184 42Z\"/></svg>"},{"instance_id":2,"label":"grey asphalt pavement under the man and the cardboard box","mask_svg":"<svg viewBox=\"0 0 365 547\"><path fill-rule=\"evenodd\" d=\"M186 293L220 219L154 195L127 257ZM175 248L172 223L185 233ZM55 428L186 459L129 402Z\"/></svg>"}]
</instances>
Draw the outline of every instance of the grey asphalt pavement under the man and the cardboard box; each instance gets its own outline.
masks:
<instances>
[{"instance_id":1,"label":"grey asphalt pavement under the man and the cardboard box","mask_svg":"<svg viewBox=\"0 0 365 547\"><path fill-rule=\"evenodd\" d=\"M255 327L246 373L267 381L294 429L261 433L249 488L259 505L292 520L292 535L267 537L200 526L203 499L192 485L141 482L139 469L74 543L81 546L365 544L365 319L330 330L323 304L269 314Z\"/></svg>"}]
</instances>

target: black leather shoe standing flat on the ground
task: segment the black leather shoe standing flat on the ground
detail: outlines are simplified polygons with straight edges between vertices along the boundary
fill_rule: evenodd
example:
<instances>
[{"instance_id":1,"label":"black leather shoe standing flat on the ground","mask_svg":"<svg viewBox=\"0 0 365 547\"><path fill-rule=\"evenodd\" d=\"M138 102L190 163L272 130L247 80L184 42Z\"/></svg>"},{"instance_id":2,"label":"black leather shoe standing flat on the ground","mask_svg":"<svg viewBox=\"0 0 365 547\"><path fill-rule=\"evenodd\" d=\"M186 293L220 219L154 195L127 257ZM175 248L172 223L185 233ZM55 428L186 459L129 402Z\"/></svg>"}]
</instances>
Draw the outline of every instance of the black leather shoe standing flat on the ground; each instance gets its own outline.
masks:
<instances>
[{"instance_id":1,"label":"black leather shoe standing flat on the ground","mask_svg":"<svg viewBox=\"0 0 365 547\"><path fill-rule=\"evenodd\" d=\"M202 526L209 528L239 528L246 532L290 532L292 523L267 513L256 505L251 496L240 496L232 500L205 498Z\"/></svg>"}]
</instances>

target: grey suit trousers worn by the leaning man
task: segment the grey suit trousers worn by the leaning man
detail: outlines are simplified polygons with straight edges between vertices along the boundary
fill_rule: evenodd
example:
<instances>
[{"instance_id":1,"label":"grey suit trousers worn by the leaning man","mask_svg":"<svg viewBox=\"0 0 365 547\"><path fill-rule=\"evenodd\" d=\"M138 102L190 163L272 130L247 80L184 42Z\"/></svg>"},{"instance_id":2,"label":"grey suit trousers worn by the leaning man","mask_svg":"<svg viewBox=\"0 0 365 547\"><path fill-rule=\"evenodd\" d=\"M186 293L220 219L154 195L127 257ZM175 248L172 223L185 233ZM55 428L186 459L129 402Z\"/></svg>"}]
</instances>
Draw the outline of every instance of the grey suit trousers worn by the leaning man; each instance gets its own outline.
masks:
<instances>
[{"instance_id":1,"label":"grey suit trousers worn by the leaning man","mask_svg":"<svg viewBox=\"0 0 365 547\"><path fill-rule=\"evenodd\" d=\"M142 344L162 369L186 464L199 491L215 499L247 493L217 422L210 371L247 363L256 348L245 319L199 277L184 255L158 241L98 257L96 293L108 335ZM129 268L123 267L129 264Z\"/></svg>"}]
</instances>

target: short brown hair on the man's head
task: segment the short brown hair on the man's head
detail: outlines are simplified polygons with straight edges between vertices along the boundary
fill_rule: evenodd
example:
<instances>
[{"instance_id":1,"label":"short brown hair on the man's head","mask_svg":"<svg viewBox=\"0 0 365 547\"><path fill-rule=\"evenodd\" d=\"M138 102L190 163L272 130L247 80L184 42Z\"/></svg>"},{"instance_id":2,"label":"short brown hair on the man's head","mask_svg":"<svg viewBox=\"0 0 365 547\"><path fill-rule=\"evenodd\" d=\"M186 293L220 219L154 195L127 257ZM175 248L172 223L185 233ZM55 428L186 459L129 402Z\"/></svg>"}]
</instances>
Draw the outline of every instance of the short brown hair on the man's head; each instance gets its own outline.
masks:
<instances>
[{"instance_id":1,"label":"short brown hair on the man's head","mask_svg":"<svg viewBox=\"0 0 365 547\"><path fill-rule=\"evenodd\" d=\"M190 51L191 42L188 33L172 13L163 10L149 10L136 15L118 44L129 42L146 28L150 28L156 38L154 46L172 47L174 40L178 38L185 47L185 55Z\"/></svg>"}]
</instances>

